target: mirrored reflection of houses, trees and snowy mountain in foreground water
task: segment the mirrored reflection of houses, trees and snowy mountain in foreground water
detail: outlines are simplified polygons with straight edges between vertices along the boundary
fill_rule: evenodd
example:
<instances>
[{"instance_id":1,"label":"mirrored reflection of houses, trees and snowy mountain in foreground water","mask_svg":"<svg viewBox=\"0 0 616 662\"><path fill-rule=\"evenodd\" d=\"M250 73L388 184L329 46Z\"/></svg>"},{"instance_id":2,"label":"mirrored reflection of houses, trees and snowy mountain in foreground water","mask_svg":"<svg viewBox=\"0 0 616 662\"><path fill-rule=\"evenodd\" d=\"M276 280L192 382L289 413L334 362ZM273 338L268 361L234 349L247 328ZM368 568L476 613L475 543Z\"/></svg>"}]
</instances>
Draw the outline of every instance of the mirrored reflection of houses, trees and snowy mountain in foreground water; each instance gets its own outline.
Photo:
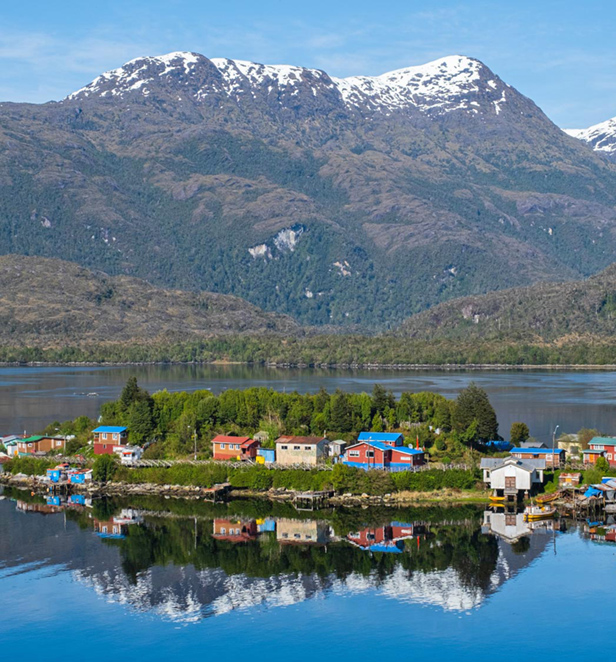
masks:
<instances>
[{"instance_id":1,"label":"mirrored reflection of houses, trees and snowy mountain in foreground water","mask_svg":"<svg viewBox=\"0 0 616 662\"><path fill-rule=\"evenodd\" d=\"M105 600L182 623L372 590L468 611L552 540L541 528L512 545L499 526L471 506L315 515L269 502L46 503L7 490L0 577L59 566Z\"/></svg>"}]
</instances>

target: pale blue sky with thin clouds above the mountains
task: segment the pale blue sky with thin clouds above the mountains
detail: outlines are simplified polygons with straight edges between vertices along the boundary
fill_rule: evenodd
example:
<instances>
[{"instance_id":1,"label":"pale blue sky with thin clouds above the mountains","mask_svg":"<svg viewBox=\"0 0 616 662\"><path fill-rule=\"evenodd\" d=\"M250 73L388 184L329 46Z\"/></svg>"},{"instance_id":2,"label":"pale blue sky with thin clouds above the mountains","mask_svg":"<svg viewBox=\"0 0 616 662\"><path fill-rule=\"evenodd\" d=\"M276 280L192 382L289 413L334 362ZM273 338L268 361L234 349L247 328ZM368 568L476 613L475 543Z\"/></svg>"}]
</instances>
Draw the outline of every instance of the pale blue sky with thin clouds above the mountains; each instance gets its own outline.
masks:
<instances>
[{"instance_id":1,"label":"pale blue sky with thin clouds above the mountains","mask_svg":"<svg viewBox=\"0 0 616 662\"><path fill-rule=\"evenodd\" d=\"M60 99L175 50L336 76L463 54L579 128L616 116L615 27L611 0L5 0L0 101Z\"/></svg>"}]
</instances>

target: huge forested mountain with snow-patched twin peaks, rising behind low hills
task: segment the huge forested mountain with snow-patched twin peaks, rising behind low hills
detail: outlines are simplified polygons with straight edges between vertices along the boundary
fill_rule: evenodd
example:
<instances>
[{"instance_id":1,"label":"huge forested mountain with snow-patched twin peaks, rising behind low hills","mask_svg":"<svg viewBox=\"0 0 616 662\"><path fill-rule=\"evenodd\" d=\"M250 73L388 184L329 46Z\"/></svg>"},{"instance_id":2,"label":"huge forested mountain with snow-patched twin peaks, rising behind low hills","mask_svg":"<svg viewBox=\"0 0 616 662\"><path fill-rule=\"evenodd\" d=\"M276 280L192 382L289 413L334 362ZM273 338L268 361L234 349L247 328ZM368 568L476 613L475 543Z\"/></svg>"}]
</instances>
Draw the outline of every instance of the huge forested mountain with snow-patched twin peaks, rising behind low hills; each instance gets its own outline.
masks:
<instances>
[{"instance_id":1,"label":"huge forested mountain with snow-patched twin peaks, rising behind low hills","mask_svg":"<svg viewBox=\"0 0 616 662\"><path fill-rule=\"evenodd\" d=\"M0 253L309 324L387 329L616 250L616 166L460 56L347 79L139 58L58 103L0 104L0 183Z\"/></svg>"}]
</instances>

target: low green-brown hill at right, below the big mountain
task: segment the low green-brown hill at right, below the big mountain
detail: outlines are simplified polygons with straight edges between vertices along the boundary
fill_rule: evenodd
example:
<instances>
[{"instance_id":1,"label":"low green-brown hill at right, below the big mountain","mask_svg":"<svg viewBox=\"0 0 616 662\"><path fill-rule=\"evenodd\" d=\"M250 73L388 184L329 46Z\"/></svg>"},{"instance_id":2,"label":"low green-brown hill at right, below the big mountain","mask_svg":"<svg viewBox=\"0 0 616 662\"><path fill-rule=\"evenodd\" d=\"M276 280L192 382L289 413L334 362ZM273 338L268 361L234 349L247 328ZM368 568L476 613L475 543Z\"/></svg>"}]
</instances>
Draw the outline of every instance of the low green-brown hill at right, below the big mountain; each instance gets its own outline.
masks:
<instances>
[{"instance_id":1,"label":"low green-brown hill at right, below the big mountain","mask_svg":"<svg viewBox=\"0 0 616 662\"><path fill-rule=\"evenodd\" d=\"M575 341L616 335L616 264L583 281L538 283L462 297L410 317L417 339Z\"/></svg>"}]
</instances>

